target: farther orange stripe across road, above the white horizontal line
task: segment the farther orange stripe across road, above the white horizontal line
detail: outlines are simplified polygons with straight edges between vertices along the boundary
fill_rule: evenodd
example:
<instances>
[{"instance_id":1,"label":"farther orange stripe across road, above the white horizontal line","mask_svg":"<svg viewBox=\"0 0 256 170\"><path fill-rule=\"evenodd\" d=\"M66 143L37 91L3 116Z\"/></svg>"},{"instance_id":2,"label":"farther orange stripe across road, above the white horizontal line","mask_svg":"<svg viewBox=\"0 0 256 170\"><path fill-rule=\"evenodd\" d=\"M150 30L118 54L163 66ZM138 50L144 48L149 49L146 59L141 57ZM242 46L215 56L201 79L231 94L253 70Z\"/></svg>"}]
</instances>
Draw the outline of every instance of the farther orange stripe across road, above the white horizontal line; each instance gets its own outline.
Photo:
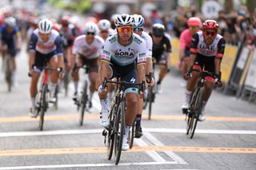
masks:
<instances>
[{"instance_id":1,"label":"farther orange stripe across road, above the white horizontal line","mask_svg":"<svg viewBox=\"0 0 256 170\"><path fill-rule=\"evenodd\" d=\"M47 115L46 121L63 121L63 120L78 120L79 115ZM99 114L86 114L85 119L95 120L99 119ZM147 115L142 115L142 118L147 120ZM170 116L170 115L152 115L152 120L161 121L184 121L184 116ZM22 122L22 121L38 121L31 117L0 117L0 123ZM240 121L240 122L256 122L255 117L206 117L206 121Z\"/></svg>"}]
</instances>

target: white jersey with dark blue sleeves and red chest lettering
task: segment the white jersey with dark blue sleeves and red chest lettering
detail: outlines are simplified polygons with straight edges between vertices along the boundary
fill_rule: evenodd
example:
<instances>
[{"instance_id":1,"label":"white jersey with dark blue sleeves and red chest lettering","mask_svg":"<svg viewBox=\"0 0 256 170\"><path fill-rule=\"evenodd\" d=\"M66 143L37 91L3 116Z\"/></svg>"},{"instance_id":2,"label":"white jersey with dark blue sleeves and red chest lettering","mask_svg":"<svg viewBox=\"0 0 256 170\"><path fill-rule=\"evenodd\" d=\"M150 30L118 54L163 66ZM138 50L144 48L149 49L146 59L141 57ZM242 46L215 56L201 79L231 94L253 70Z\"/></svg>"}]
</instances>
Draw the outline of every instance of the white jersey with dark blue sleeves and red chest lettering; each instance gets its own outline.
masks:
<instances>
[{"instance_id":1,"label":"white jersey with dark blue sleeves and red chest lettering","mask_svg":"<svg viewBox=\"0 0 256 170\"><path fill-rule=\"evenodd\" d=\"M58 31L52 30L49 40L47 42L42 42L38 29L36 29L33 31L30 38L30 51L38 51L42 54L53 52L54 54L62 53L62 38L58 34Z\"/></svg>"}]
</instances>

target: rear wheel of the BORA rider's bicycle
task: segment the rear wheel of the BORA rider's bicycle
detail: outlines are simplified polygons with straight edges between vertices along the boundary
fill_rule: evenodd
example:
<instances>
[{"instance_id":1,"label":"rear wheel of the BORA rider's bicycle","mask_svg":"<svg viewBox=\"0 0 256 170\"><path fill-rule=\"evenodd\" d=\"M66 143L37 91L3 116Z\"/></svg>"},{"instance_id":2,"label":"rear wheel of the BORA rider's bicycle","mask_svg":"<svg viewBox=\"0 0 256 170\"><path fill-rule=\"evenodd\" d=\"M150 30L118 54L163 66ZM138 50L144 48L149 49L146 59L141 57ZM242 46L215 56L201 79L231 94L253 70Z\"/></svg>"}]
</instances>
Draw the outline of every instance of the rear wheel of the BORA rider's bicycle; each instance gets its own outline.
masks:
<instances>
[{"instance_id":1,"label":"rear wheel of the BORA rider's bicycle","mask_svg":"<svg viewBox=\"0 0 256 170\"><path fill-rule=\"evenodd\" d=\"M114 118L116 117L115 113L117 112L117 106L114 104L113 108L110 111L109 119L110 119L110 126L108 128L107 134L107 159L111 160L114 150Z\"/></svg>"}]
</instances>

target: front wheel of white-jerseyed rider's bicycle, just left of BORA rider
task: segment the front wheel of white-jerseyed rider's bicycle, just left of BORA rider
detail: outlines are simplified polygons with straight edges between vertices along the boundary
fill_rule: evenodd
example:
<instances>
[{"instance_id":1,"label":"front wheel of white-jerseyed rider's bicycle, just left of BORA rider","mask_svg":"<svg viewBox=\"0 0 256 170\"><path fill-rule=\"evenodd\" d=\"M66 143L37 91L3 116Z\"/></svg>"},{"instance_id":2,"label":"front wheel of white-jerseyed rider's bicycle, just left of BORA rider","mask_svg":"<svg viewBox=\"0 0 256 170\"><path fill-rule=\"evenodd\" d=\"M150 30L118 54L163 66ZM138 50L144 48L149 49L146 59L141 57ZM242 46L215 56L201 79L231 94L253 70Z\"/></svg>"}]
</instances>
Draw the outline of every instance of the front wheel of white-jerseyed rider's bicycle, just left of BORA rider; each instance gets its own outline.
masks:
<instances>
[{"instance_id":1,"label":"front wheel of white-jerseyed rider's bicycle, just left of BORA rider","mask_svg":"<svg viewBox=\"0 0 256 170\"><path fill-rule=\"evenodd\" d=\"M85 110L86 110L86 104L88 101L88 95L87 95L87 86L88 82L85 81L85 84L82 89L82 97L81 97L81 103L80 103L80 118L79 118L79 125L82 126L83 120L84 120L84 115L85 115Z\"/></svg>"}]
</instances>

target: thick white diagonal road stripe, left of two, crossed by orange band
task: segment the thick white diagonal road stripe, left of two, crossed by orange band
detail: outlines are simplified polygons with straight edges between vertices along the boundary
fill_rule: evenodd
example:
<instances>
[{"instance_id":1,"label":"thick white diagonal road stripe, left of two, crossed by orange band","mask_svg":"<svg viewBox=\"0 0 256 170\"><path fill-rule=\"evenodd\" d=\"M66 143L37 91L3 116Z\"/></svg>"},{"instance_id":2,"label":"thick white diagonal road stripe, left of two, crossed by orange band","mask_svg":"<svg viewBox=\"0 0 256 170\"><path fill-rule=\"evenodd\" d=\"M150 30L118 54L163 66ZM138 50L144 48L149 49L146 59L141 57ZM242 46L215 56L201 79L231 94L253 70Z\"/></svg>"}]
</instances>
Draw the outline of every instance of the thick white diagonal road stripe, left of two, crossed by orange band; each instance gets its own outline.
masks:
<instances>
[{"instance_id":1,"label":"thick white diagonal road stripe, left of two, crossed by orange band","mask_svg":"<svg viewBox=\"0 0 256 170\"><path fill-rule=\"evenodd\" d=\"M158 140L155 136L153 136L150 132L144 132L144 136L148 140L150 140L154 145L156 146L164 146L160 140ZM165 152L167 156L170 156L171 159L173 159L177 164L188 164L185 160L183 160L180 156L178 156L176 153L171 151Z\"/></svg>"}]
</instances>

